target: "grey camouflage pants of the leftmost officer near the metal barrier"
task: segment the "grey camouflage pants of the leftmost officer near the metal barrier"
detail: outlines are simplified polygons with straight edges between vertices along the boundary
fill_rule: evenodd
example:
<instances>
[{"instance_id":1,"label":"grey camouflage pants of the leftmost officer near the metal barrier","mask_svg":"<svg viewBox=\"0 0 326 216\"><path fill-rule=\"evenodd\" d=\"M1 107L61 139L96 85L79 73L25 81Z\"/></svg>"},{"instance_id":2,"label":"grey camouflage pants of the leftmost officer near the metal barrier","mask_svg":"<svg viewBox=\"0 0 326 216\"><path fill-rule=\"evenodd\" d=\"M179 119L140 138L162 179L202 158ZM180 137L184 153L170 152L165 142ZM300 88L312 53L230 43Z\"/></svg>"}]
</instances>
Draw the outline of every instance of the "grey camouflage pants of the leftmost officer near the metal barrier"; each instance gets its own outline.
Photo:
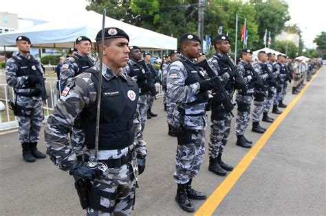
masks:
<instances>
[{"instance_id":1,"label":"grey camouflage pants of the leftmost officer near the metal barrier","mask_svg":"<svg viewBox=\"0 0 326 216\"><path fill-rule=\"evenodd\" d=\"M32 97L16 95L17 104L25 109L21 110L22 115L17 116L19 123L19 141L21 143L39 142L39 134L44 119L43 104L41 100Z\"/></svg>"}]
</instances>

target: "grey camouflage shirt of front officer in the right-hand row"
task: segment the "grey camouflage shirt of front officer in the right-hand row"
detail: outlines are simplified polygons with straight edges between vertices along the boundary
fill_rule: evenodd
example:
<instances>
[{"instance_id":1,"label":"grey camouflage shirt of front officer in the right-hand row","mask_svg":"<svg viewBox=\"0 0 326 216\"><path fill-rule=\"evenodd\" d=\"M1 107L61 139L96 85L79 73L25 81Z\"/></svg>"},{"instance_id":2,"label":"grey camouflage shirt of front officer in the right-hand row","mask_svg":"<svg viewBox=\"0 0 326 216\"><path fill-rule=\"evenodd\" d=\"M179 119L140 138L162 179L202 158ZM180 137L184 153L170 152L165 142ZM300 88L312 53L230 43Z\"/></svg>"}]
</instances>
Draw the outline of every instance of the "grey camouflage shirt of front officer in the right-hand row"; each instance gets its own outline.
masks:
<instances>
[{"instance_id":1,"label":"grey camouflage shirt of front officer in the right-hand row","mask_svg":"<svg viewBox=\"0 0 326 216\"><path fill-rule=\"evenodd\" d=\"M205 111L207 103L190 104L197 100L196 95L199 93L200 86L198 82L185 85L184 82L187 77L188 73L184 64L182 64L180 60L172 62L166 77L167 93L171 102L176 103L179 108L184 109L184 119L180 119L182 122L179 123L182 124L184 128L204 130L207 122ZM202 117L200 117L200 115L202 115Z\"/></svg>"}]
</instances>

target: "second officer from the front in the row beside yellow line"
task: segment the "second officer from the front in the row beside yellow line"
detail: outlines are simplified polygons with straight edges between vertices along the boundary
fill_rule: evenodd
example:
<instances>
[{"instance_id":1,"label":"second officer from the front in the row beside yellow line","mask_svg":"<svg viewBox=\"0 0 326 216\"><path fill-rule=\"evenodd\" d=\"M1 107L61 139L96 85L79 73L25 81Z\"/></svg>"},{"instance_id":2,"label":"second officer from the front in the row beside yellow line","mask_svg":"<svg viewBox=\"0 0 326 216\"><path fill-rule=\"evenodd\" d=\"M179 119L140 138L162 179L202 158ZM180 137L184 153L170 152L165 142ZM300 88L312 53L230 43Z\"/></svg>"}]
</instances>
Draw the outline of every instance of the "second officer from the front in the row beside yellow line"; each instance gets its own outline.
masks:
<instances>
[{"instance_id":1,"label":"second officer from the front in the row beside yellow line","mask_svg":"<svg viewBox=\"0 0 326 216\"><path fill-rule=\"evenodd\" d=\"M216 71L224 84L226 93L232 98L235 91L234 78L235 73L230 69L226 62L221 60L223 55L230 51L230 40L228 36L220 34L213 41L216 53L208 60L208 63ZM232 171L233 167L224 163L221 156L224 152L224 147L228 142L230 135L232 116L226 113L222 105L222 98L219 93L212 91L212 115L210 116L210 141L209 146L209 166L208 170L219 176L226 176L226 171Z\"/></svg>"}]
</instances>

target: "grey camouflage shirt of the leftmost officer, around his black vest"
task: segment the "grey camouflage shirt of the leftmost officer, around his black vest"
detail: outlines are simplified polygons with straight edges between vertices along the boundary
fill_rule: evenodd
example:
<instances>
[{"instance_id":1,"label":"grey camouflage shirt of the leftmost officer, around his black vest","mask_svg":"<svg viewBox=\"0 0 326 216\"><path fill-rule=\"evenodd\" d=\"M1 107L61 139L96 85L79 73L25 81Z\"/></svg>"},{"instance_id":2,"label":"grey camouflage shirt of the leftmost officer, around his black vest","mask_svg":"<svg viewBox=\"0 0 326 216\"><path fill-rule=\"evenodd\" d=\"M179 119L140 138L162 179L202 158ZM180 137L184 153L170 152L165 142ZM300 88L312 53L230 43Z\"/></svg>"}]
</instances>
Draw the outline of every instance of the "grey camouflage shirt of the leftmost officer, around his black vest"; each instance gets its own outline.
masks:
<instances>
[{"instance_id":1,"label":"grey camouflage shirt of the leftmost officer, around his black vest","mask_svg":"<svg viewBox=\"0 0 326 216\"><path fill-rule=\"evenodd\" d=\"M31 55L28 56L28 58L26 58L21 53L17 53L14 56L16 56L19 60L31 58ZM35 59L35 60L36 60L36 62L38 62L39 70L42 73L44 73L39 59ZM16 91L18 93L32 92L33 91L32 88L26 88L28 86L28 76L23 75L23 76L17 77L17 71L18 71L18 66L17 66L17 63L14 60L14 58L8 59L8 61L6 62L6 79L7 79L8 86L11 86L12 88L14 88L14 91ZM17 95L17 96L23 97L20 95ZM30 97L30 98L32 98L33 100L41 100L41 95L36 96L36 97Z\"/></svg>"}]
</instances>

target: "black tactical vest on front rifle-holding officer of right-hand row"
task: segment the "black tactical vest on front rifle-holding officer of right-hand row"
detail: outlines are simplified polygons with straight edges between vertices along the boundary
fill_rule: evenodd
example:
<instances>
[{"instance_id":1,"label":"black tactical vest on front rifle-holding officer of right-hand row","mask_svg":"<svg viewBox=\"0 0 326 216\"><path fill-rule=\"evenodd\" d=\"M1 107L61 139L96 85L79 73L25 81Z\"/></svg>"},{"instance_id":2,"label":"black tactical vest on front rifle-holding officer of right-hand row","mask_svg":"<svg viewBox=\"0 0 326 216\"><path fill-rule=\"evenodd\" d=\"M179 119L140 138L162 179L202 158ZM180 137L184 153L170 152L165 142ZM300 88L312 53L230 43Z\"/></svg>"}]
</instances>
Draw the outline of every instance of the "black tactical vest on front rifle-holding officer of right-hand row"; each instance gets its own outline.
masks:
<instances>
[{"instance_id":1,"label":"black tactical vest on front rifle-holding officer of right-hand row","mask_svg":"<svg viewBox=\"0 0 326 216\"><path fill-rule=\"evenodd\" d=\"M199 82L201 80L205 80L203 72L199 70L198 67L195 67L193 62L189 61L188 59L184 58L183 56L180 57L180 62L184 64L184 68L187 71L187 77L184 81L185 86L189 86L191 84L194 84L195 82ZM208 93L199 91L199 93L196 95L197 99L196 101L193 101L188 104L201 104L204 102L208 102Z\"/></svg>"}]
</instances>

